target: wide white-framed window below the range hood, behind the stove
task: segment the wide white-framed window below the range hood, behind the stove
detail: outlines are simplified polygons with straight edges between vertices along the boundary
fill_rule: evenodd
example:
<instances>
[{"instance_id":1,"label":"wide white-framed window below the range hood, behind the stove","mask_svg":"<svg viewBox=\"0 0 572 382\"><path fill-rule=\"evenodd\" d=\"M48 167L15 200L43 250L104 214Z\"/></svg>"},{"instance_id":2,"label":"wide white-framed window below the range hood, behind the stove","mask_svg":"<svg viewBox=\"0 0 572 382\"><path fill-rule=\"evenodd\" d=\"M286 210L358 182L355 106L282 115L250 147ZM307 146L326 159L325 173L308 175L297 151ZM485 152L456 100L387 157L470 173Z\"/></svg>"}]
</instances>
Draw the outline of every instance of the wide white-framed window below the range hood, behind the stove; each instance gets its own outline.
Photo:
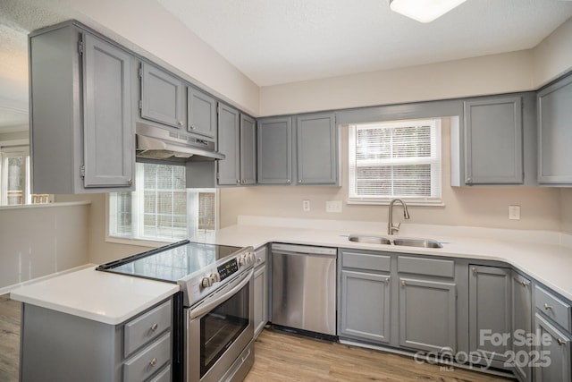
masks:
<instances>
[{"instance_id":1,"label":"wide white-framed window below the range hood, behind the stove","mask_svg":"<svg viewBox=\"0 0 572 382\"><path fill-rule=\"evenodd\" d=\"M185 167L138 163L137 191L109 194L109 235L177 241L216 227L216 191L186 189Z\"/></svg>"}]
</instances>

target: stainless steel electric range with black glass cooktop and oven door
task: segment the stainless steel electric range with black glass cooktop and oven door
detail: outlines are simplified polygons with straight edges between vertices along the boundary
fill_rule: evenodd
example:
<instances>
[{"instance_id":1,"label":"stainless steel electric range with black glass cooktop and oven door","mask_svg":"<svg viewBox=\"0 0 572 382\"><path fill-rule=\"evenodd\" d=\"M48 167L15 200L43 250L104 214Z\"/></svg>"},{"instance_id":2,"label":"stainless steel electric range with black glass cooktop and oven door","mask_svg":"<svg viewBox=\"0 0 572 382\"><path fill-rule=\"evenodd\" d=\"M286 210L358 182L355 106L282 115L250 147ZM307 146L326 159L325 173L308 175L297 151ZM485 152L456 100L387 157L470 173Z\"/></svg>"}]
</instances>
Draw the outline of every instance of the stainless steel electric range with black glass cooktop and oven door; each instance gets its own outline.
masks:
<instances>
[{"instance_id":1,"label":"stainless steel electric range with black glass cooktop and oven door","mask_svg":"<svg viewBox=\"0 0 572 382\"><path fill-rule=\"evenodd\" d=\"M97 270L176 283L173 381L242 380L254 363L252 247L175 242Z\"/></svg>"}]
</instances>

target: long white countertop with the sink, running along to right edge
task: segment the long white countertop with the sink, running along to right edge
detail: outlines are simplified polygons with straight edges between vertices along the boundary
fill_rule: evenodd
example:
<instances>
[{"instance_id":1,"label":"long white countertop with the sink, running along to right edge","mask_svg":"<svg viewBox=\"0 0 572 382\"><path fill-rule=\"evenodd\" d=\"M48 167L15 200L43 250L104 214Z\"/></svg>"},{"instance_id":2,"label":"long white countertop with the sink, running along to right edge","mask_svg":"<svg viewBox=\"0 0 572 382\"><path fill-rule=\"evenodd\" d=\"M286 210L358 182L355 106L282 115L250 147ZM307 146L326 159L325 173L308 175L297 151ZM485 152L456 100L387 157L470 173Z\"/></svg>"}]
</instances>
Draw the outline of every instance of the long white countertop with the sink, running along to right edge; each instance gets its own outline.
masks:
<instances>
[{"instance_id":1,"label":"long white countertop with the sink, running along to right edge","mask_svg":"<svg viewBox=\"0 0 572 382\"><path fill-rule=\"evenodd\" d=\"M387 237L387 225L370 222L341 222L312 219L282 219L240 216L239 224L197 236L196 242L255 248L267 242L384 250L464 259L505 262L572 301L572 238L542 231L519 231L475 227L401 225L394 238L424 238L442 242L443 248L398 247L349 242L349 234Z\"/></svg>"}]
</instances>

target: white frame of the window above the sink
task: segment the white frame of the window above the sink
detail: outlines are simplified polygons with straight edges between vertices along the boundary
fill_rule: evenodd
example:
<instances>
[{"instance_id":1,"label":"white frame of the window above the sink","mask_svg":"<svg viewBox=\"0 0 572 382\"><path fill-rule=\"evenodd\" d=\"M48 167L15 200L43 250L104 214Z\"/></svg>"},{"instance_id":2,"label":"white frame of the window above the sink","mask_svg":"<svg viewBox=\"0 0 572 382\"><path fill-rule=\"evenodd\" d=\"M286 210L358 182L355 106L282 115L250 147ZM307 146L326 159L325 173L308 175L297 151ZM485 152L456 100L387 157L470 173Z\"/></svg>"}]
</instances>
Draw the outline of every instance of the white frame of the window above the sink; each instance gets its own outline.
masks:
<instances>
[{"instance_id":1,"label":"white frame of the window above the sink","mask_svg":"<svg viewBox=\"0 0 572 382\"><path fill-rule=\"evenodd\" d=\"M378 160L378 166L383 166L379 162L385 162L387 166L394 165L404 165L404 164L429 164L431 166L431 190L437 191L437 194L432 197L420 197L420 196L408 196L408 195L392 195L392 196L366 196L357 195L356 190L356 173L357 173L357 157L356 157L356 139L357 139L357 128L359 127L386 127L386 128L397 128L397 127L407 127L411 126L412 123L419 124L430 124L434 126L434 148L432 151L436 154L436 157L428 157L425 160L419 160L419 157L415 159L380 159ZM442 199L442 182L443 182L443 153L442 153L442 118L416 118L410 120L394 120L394 121L382 121L382 122L368 122L368 123L349 123L349 136L348 136L348 194L347 203L357 204L357 205L388 205L392 199L403 199L412 206L433 206L433 207L443 207ZM432 145L433 146L433 145ZM435 165L435 166L433 166Z\"/></svg>"}]
</instances>

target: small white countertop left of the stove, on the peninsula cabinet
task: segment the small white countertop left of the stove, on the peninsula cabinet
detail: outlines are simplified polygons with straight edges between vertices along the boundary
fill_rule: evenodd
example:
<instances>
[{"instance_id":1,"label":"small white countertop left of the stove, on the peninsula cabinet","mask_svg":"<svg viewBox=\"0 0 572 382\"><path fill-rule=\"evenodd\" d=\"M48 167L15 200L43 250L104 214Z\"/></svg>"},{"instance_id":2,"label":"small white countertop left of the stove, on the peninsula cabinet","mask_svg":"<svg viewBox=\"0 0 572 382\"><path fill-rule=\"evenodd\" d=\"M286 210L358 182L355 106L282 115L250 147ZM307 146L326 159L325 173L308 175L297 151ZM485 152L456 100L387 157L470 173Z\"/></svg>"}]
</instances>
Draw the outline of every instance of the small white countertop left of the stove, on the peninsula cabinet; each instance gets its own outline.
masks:
<instances>
[{"instance_id":1,"label":"small white countertop left of the stove, on the peninsula cabinet","mask_svg":"<svg viewBox=\"0 0 572 382\"><path fill-rule=\"evenodd\" d=\"M22 286L10 298L117 325L179 291L178 284L114 275L95 267Z\"/></svg>"}]
</instances>

